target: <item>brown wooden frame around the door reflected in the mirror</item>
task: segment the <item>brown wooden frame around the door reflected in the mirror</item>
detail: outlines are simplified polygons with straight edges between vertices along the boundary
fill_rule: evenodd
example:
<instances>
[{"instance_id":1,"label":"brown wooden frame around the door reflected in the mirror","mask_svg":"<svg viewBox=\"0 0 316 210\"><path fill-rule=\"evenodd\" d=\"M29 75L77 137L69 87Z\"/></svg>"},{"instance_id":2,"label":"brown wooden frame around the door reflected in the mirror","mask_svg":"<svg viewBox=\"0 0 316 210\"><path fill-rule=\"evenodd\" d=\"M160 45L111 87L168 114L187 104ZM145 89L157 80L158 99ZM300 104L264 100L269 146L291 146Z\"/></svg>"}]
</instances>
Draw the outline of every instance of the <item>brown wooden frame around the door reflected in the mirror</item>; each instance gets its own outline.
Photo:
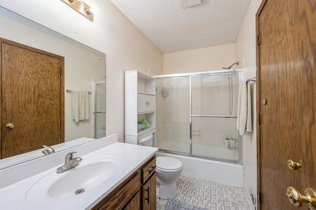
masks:
<instances>
[{"instance_id":1,"label":"brown wooden frame around the door reflected in the mirror","mask_svg":"<svg viewBox=\"0 0 316 210\"><path fill-rule=\"evenodd\" d=\"M40 50L40 49L37 49L37 48L34 48L34 47L31 47L31 46L28 46L28 45L24 45L24 44L21 44L21 43L18 43L18 42L14 42L14 41L11 41L11 40L8 40L8 39L5 39L5 38L2 38L0 37L0 78L1 78L1 81L0 81L0 90L2 89L2 43L6 43L6 44L10 44L10 45L13 45L13 46L16 46L16 47L21 47L21 48L24 48L26 50L30 50L30 51L33 51L33 52L36 52L36 53L41 53L43 55L47 55L47 56L50 56L50 57L54 57L54 58L57 58L57 59L60 59L60 143L63 143L65 142L65 86L64 86L64 81L65 81L65 78L64 78L64 72L65 72L65 58L63 56L60 56L60 55L56 55L56 54L53 54L53 53L49 53L49 52L46 52L46 51L43 51L43 50ZM2 98L2 91L0 91L0 99ZM2 110L2 103L0 102L0 121L1 121L1 126L0 126L0 134L2 133L2 113L1 113L1 110ZM2 148L2 137L0 137L0 148ZM1 156L2 156L2 149L0 149L0 159L1 159Z\"/></svg>"}]
</instances>

